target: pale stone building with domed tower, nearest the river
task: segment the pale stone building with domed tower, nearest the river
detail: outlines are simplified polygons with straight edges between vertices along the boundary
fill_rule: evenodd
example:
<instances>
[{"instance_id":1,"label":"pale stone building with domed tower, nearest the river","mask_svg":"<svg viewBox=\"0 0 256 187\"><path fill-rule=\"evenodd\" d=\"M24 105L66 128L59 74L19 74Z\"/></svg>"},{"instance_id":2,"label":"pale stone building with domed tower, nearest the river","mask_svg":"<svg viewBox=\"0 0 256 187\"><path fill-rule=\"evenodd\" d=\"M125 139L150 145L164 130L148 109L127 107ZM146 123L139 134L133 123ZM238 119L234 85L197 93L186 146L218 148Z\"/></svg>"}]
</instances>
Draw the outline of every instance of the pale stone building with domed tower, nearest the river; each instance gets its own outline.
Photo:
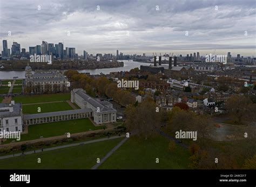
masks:
<instances>
[{"instance_id":1,"label":"pale stone building with domed tower, nearest the river","mask_svg":"<svg viewBox=\"0 0 256 187\"><path fill-rule=\"evenodd\" d=\"M57 70L38 70L32 73L29 64L25 68L24 92L65 92L69 90L69 86L68 78Z\"/></svg>"}]
</instances>

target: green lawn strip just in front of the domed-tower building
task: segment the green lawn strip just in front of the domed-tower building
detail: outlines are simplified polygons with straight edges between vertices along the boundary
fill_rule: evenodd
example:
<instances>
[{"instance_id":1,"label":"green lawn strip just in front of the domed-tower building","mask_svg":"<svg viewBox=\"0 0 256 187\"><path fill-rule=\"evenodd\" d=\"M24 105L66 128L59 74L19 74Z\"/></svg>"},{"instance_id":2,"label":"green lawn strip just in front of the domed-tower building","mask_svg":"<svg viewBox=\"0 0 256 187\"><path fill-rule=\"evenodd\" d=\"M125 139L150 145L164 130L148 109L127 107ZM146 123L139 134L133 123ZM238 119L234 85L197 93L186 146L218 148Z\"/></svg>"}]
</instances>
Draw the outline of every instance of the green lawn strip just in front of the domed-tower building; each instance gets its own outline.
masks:
<instances>
[{"instance_id":1,"label":"green lawn strip just in front of the domed-tower building","mask_svg":"<svg viewBox=\"0 0 256 187\"><path fill-rule=\"evenodd\" d=\"M29 103L44 103L55 102L58 100L70 100L70 93L53 93L44 95L31 95L31 96L17 96L14 97L16 103L29 104Z\"/></svg>"}]
</instances>

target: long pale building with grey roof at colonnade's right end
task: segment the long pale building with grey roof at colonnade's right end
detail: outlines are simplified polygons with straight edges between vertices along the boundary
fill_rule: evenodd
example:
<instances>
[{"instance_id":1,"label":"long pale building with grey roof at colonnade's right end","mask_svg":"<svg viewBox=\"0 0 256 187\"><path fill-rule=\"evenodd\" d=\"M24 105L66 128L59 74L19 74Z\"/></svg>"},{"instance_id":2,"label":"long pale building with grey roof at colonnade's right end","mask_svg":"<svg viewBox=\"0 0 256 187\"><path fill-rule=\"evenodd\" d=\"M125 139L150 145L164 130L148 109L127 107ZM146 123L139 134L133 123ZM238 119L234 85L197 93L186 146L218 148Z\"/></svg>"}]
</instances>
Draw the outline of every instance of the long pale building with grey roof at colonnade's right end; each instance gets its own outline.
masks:
<instances>
[{"instance_id":1,"label":"long pale building with grey roof at colonnade's right end","mask_svg":"<svg viewBox=\"0 0 256 187\"><path fill-rule=\"evenodd\" d=\"M73 89L71 91L71 102L76 103L81 109L91 109L93 121L96 124L116 122L117 111L109 102L99 102L86 94L83 89Z\"/></svg>"}]
</instances>

